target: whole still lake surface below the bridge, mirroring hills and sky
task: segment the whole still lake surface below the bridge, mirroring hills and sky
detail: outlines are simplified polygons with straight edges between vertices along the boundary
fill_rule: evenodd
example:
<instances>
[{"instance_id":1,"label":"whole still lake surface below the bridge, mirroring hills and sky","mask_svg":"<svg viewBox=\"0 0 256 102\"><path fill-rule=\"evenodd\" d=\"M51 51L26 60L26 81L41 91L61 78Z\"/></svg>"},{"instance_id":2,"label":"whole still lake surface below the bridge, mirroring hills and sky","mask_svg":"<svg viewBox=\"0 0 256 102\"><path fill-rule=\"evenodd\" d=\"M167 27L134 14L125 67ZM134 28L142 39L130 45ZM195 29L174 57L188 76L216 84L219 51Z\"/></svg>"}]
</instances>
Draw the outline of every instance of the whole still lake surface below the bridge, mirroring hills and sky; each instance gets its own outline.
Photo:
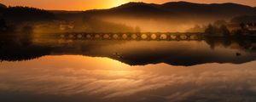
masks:
<instances>
[{"instance_id":1,"label":"whole still lake surface below the bridge, mirroring hills and sky","mask_svg":"<svg viewBox=\"0 0 256 102\"><path fill-rule=\"evenodd\" d=\"M254 41L1 42L1 102L255 102Z\"/></svg>"}]
</instances>

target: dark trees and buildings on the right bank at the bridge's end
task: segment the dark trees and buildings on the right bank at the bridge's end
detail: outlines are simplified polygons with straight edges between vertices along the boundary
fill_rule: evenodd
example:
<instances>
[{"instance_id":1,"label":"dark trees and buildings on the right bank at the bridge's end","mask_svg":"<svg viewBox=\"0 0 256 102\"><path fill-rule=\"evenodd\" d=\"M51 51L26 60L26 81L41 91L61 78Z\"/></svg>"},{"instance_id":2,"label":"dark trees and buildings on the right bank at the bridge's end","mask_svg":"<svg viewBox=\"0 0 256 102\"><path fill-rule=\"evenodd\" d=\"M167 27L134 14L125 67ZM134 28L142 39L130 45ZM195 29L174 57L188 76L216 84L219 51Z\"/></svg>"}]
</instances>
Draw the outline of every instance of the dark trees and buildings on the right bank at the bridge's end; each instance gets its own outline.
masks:
<instances>
[{"instance_id":1,"label":"dark trees and buildings on the right bank at the bridge's end","mask_svg":"<svg viewBox=\"0 0 256 102\"><path fill-rule=\"evenodd\" d=\"M217 20L205 27L205 34L207 37L255 37L255 29L256 15L244 15L235 17L229 22Z\"/></svg>"}]
</instances>

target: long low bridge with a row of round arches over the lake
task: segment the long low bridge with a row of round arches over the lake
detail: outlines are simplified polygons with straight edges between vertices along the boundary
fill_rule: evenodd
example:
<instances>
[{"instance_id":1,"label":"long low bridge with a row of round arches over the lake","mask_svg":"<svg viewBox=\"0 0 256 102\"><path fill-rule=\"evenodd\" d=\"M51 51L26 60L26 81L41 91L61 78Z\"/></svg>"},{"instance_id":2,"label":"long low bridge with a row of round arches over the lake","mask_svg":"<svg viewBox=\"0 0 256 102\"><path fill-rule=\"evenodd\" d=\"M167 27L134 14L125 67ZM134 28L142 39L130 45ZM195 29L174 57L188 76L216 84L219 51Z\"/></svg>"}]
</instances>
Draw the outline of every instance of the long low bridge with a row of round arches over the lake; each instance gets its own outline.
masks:
<instances>
[{"instance_id":1,"label":"long low bridge with a row of round arches over the lake","mask_svg":"<svg viewBox=\"0 0 256 102\"><path fill-rule=\"evenodd\" d=\"M138 33L62 33L61 38L80 40L203 40L203 33L168 33L168 32L138 32Z\"/></svg>"}]
</instances>

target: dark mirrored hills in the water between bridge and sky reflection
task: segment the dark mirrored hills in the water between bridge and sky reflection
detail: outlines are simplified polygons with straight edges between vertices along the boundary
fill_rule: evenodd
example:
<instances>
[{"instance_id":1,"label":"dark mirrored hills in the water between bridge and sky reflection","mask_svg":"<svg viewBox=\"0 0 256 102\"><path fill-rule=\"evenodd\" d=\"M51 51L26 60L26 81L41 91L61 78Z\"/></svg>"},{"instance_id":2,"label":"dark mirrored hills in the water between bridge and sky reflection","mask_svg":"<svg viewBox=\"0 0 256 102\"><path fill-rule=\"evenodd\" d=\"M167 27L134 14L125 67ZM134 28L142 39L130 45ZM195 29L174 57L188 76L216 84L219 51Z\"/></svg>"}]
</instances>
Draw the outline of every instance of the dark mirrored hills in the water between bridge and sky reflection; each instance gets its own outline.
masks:
<instances>
[{"instance_id":1,"label":"dark mirrored hills in the water between bridge and sky reflection","mask_svg":"<svg viewBox=\"0 0 256 102\"><path fill-rule=\"evenodd\" d=\"M34 59L44 55L79 54L117 59L128 65L241 64L256 59L255 40L250 39L93 41L40 37L33 38L30 42L30 44L20 44L19 41L3 40L0 44L0 59L16 61Z\"/></svg>"}]
</instances>

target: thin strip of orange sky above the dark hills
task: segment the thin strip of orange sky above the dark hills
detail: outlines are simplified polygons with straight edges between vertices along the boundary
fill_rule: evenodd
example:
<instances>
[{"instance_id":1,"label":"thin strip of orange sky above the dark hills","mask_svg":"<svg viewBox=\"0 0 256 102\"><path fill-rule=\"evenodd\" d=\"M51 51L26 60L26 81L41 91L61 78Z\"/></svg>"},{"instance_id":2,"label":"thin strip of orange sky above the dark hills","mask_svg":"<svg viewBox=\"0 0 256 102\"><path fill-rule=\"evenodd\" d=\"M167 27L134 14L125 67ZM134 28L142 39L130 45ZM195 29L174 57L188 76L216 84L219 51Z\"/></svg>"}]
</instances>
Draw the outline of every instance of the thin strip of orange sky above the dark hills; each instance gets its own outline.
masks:
<instances>
[{"instance_id":1,"label":"thin strip of orange sky above the dark hills","mask_svg":"<svg viewBox=\"0 0 256 102\"><path fill-rule=\"evenodd\" d=\"M86 10L93 8L112 8L122 3L145 2L166 3L180 0L0 0L0 3L16 6L29 6L55 10ZM255 7L256 0L183 0L194 3L241 3Z\"/></svg>"}]
</instances>

